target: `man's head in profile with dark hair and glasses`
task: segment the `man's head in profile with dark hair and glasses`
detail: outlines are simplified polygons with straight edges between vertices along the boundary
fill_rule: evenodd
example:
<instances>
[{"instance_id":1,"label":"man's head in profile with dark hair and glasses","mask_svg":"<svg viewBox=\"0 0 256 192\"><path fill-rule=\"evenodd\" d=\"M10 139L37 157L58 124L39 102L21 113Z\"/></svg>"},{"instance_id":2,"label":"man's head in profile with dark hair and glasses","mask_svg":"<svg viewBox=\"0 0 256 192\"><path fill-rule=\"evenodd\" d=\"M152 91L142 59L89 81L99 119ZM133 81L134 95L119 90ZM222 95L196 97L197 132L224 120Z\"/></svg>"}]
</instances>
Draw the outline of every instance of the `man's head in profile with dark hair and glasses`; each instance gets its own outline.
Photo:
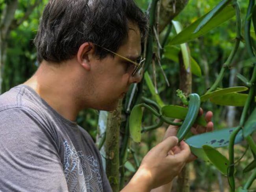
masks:
<instances>
[{"instance_id":1,"label":"man's head in profile with dark hair and glasses","mask_svg":"<svg viewBox=\"0 0 256 192\"><path fill-rule=\"evenodd\" d=\"M35 45L39 62L54 68L49 84L65 87L76 108L112 111L141 80L117 55L136 61L146 33L147 18L133 0L50 0Z\"/></svg>"}]
</instances>

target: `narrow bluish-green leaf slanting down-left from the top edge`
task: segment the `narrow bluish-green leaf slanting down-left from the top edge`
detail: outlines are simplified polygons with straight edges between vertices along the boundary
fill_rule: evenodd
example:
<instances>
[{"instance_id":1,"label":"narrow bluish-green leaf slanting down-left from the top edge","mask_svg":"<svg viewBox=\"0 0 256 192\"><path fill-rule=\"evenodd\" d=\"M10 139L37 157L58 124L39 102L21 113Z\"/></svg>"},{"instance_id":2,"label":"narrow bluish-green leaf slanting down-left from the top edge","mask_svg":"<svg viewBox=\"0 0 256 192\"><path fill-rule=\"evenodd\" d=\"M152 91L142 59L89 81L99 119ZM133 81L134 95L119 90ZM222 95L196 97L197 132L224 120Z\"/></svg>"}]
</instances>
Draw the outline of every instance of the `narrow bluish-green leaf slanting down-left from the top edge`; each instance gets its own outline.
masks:
<instances>
[{"instance_id":1,"label":"narrow bluish-green leaf slanting down-left from the top edge","mask_svg":"<svg viewBox=\"0 0 256 192\"><path fill-rule=\"evenodd\" d=\"M197 28L195 29L194 33L197 33L202 27L204 27L208 22L214 21L214 16L219 12L221 9L223 9L226 4L230 2L230 0L222 0L219 2L217 6L215 6L209 13L207 13L206 17L202 19L202 21L198 24Z\"/></svg>"}]
</instances>

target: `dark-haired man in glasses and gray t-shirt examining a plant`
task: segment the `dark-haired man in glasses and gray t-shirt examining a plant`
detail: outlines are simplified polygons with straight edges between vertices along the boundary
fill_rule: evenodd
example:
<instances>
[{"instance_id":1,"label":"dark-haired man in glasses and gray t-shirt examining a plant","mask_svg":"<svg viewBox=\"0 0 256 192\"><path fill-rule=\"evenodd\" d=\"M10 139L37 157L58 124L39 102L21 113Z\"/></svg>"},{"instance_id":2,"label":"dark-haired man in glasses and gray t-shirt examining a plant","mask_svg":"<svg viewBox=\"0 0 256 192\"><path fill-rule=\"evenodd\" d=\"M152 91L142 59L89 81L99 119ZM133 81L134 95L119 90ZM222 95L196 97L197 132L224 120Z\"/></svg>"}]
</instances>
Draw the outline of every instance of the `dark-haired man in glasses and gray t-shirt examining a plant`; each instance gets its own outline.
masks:
<instances>
[{"instance_id":1,"label":"dark-haired man in glasses and gray t-shirt examining a plant","mask_svg":"<svg viewBox=\"0 0 256 192\"><path fill-rule=\"evenodd\" d=\"M49 1L35 38L37 72L0 96L1 191L111 191L100 153L75 120L89 107L112 111L141 80L123 57L140 58L146 24L133 0ZM168 128L122 192L171 188L194 159L184 141L177 146L176 129Z\"/></svg>"}]
</instances>

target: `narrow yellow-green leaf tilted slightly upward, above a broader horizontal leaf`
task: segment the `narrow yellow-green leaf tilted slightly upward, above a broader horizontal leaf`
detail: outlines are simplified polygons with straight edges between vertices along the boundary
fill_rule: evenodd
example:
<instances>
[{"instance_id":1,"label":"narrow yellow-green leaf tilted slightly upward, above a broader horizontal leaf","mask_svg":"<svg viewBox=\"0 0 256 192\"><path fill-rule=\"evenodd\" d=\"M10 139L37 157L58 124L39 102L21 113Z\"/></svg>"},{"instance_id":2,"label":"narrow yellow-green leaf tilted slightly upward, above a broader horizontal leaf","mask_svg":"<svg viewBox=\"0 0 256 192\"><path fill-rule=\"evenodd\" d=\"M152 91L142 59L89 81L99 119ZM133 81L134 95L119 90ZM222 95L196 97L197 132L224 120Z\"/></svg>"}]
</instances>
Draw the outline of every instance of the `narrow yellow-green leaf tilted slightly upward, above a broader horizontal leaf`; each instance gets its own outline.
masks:
<instances>
[{"instance_id":1,"label":"narrow yellow-green leaf tilted slightly upward, above a broader horizontal leaf","mask_svg":"<svg viewBox=\"0 0 256 192\"><path fill-rule=\"evenodd\" d=\"M233 92L241 92L247 90L247 87L228 87L225 89L218 89L213 92L204 94L200 97L201 102L204 102L208 100L209 98L215 97L215 96L222 96L227 93L233 93Z\"/></svg>"}]
</instances>

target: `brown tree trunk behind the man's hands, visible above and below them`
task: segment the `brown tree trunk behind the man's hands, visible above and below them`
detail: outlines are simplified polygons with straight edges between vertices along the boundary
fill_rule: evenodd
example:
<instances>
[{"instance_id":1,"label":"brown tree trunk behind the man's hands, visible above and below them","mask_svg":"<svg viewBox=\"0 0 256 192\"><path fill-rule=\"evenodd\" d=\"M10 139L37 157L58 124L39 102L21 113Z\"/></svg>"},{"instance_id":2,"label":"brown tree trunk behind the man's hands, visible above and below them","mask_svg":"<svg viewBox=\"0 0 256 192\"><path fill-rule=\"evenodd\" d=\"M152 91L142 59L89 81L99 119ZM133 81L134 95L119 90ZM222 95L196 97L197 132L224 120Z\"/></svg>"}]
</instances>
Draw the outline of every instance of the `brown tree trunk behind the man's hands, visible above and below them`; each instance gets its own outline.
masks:
<instances>
[{"instance_id":1,"label":"brown tree trunk behind the man's hands, visible above and below them","mask_svg":"<svg viewBox=\"0 0 256 192\"><path fill-rule=\"evenodd\" d=\"M191 66L185 68L182 54L179 54L180 63L180 90L188 96L192 91ZM186 165L178 175L177 184L173 186L172 192L189 192L189 166Z\"/></svg>"}]
</instances>

